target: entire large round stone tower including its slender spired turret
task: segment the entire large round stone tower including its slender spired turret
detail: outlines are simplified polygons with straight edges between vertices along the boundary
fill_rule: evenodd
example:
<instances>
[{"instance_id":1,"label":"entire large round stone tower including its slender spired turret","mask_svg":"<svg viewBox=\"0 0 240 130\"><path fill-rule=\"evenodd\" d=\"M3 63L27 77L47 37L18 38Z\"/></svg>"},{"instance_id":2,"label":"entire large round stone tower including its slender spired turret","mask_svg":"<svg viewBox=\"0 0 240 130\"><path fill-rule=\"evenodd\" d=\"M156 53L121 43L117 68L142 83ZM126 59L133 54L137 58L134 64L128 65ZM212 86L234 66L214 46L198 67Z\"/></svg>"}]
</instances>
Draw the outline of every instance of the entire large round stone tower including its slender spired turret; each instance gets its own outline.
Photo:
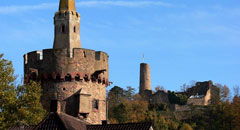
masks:
<instances>
[{"instance_id":1,"label":"entire large round stone tower including its slender spired turret","mask_svg":"<svg viewBox=\"0 0 240 130\"><path fill-rule=\"evenodd\" d=\"M106 120L108 55L81 48L80 15L74 0L60 0L54 24L53 48L24 55L24 82L41 82L46 110L101 124Z\"/></svg>"}]
</instances>

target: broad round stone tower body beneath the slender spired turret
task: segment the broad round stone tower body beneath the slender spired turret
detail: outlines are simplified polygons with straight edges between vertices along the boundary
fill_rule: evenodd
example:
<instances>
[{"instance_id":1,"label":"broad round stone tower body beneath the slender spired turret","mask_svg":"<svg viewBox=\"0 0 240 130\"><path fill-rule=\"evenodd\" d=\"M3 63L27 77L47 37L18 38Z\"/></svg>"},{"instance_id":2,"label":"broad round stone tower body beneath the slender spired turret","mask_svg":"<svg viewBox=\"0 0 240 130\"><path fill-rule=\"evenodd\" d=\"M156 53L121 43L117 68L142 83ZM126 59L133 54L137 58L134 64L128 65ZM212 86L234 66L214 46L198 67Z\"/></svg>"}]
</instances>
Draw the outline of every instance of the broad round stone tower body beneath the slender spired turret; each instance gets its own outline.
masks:
<instances>
[{"instance_id":1,"label":"broad round stone tower body beneath the slender spired turret","mask_svg":"<svg viewBox=\"0 0 240 130\"><path fill-rule=\"evenodd\" d=\"M24 55L24 81L41 81L44 108L49 111L51 100L60 100L62 112L75 117L85 114L84 119L93 124L106 120L108 70L108 55L88 49L75 48L72 57L67 49ZM79 97L83 94L89 98ZM97 109L93 108L94 100L98 100ZM81 113L84 104L90 108Z\"/></svg>"}]
</instances>

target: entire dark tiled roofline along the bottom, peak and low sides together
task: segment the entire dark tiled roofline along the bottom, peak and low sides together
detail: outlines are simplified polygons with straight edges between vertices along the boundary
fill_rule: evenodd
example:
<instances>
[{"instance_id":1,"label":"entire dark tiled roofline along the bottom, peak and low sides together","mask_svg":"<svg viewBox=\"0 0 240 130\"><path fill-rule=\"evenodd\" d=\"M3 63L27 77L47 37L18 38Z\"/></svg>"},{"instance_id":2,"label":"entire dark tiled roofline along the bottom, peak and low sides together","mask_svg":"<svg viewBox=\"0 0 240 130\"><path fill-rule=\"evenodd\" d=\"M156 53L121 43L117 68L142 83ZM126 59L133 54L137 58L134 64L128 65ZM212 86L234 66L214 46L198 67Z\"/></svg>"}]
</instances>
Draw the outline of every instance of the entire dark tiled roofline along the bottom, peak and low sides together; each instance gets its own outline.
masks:
<instances>
[{"instance_id":1,"label":"entire dark tiled roofline along the bottom, peak and low sides together","mask_svg":"<svg viewBox=\"0 0 240 130\"><path fill-rule=\"evenodd\" d=\"M91 125L65 113L51 112L37 126L14 126L9 130L153 130L152 123Z\"/></svg>"}]
</instances>

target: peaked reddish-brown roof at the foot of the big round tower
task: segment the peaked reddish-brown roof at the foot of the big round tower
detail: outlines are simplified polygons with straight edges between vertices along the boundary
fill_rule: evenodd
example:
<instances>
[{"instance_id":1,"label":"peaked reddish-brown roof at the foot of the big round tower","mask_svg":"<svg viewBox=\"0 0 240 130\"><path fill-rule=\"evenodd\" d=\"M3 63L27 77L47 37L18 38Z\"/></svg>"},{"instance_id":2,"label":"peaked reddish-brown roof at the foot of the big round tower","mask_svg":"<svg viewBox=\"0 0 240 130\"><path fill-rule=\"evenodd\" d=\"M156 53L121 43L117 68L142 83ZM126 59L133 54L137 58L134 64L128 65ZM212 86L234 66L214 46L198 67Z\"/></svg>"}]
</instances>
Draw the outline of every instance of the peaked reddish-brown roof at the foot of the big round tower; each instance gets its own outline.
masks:
<instances>
[{"instance_id":1,"label":"peaked reddish-brown roof at the foot of the big round tower","mask_svg":"<svg viewBox=\"0 0 240 130\"><path fill-rule=\"evenodd\" d=\"M85 130L89 123L67 115L65 113L49 113L46 118L39 123L35 129L37 130Z\"/></svg>"}]
</instances>

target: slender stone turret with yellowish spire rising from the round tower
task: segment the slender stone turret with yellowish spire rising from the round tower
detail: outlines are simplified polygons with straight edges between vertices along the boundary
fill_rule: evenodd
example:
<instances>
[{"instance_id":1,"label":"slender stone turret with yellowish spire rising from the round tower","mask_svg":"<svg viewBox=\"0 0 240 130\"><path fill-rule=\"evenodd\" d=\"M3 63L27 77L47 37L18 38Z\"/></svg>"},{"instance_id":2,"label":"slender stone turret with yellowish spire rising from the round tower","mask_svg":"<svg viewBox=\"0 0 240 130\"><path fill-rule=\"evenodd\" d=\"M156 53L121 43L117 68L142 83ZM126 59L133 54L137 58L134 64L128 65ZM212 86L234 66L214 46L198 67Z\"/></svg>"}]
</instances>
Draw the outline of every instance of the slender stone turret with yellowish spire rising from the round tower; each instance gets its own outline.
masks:
<instances>
[{"instance_id":1,"label":"slender stone turret with yellowish spire rising from the round tower","mask_svg":"<svg viewBox=\"0 0 240 130\"><path fill-rule=\"evenodd\" d=\"M81 48L80 14L76 12L74 0L60 0L59 11L54 17L55 38L53 49Z\"/></svg>"}]
</instances>

